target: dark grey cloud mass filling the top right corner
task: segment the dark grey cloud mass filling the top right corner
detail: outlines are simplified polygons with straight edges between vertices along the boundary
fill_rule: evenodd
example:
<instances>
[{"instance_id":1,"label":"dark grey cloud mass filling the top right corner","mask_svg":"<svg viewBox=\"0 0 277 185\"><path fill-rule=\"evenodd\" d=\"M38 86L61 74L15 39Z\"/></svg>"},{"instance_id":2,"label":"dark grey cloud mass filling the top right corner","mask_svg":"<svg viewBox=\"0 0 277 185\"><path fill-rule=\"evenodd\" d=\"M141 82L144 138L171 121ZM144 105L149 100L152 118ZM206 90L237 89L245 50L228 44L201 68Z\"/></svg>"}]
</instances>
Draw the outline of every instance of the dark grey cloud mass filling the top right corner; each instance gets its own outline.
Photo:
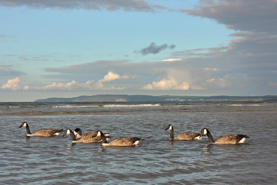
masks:
<instances>
[{"instance_id":1,"label":"dark grey cloud mass filling the top right corner","mask_svg":"<svg viewBox=\"0 0 277 185\"><path fill-rule=\"evenodd\" d=\"M233 30L277 33L276 0L201 0L193 10L179 11L214 19Z\"/></svg>"}]
</instances>

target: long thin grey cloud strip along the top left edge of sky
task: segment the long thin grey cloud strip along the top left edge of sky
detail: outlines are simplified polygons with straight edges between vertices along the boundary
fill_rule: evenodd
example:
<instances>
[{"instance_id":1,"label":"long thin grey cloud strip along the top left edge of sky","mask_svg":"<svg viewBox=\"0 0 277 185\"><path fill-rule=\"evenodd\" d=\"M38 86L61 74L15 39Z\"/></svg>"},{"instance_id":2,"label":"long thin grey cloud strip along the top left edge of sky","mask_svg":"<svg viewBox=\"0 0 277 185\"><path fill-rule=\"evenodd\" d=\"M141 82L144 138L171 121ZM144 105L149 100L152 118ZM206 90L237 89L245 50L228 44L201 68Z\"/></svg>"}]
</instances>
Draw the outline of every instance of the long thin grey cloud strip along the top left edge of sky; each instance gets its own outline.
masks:
<instances>
[{"instance_id":1,"label":"long thin grey cloud strip along the top left edge of sky","mask_svg":"<svg viewBox=\"0 0 277 185\"><path fill-rule=\"evenodd\" d=\"M165 9L163 6L150 5L144 0L0 0L1 6L26 6L32 9L87 9L87 10L123 10L123 11L143 11L154 12L154 9Z\"/></svg>"}]
</instances>

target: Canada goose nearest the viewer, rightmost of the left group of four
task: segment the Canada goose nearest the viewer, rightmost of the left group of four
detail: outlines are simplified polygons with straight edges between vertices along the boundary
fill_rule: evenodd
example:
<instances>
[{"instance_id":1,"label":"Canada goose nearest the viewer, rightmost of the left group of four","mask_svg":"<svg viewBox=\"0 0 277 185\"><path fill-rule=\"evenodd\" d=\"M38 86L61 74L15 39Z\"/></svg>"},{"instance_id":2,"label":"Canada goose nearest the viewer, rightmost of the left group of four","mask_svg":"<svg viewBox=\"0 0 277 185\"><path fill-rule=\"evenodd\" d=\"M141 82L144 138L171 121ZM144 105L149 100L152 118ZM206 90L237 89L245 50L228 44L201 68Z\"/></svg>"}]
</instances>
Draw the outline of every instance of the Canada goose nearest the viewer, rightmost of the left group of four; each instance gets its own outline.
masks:
<instances>
[{"instance_id":1,"label":"Canada goose nearest the viewer, rightmost of the left group of four","mask_svg":"<svg viewBox=\"0 0 277 185\"><path fill-rule=\"evenodd\" d=\"M144 140L142 138L126 137L126 138L115 138L108 143L104 134L100 130L98 130L97 132L98 132L97 136L100 136L102 138L102 146L132 146L132 145L137 145L141 140Z\"/></svg>"}]
</instances>

